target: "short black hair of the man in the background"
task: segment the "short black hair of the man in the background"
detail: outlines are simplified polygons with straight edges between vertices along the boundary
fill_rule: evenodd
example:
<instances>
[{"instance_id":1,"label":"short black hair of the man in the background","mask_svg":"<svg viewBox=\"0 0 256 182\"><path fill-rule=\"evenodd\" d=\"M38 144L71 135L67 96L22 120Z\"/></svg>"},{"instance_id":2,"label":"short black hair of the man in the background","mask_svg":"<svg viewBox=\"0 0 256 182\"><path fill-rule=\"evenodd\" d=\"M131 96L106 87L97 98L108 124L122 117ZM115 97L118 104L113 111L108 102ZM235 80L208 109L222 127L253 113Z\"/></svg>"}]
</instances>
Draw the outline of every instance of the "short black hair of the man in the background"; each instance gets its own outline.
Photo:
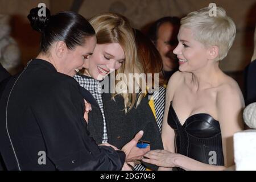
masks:
<instances>
[{"instance_id":1,"label":"short black hair of the man in the background","mask_svg":"<svg viewBox=\"0 0 256 182\"><path fill-rule=\"evenodd\" d=\"M180 27L180 18L176 16L166 16L156 20L154 23L151 24L150 28L148 28L147 36L155 44L155 46L156 41L158 40L159 27L163 23L171 23L174 26Z\"/></svg>"}]
</instances>

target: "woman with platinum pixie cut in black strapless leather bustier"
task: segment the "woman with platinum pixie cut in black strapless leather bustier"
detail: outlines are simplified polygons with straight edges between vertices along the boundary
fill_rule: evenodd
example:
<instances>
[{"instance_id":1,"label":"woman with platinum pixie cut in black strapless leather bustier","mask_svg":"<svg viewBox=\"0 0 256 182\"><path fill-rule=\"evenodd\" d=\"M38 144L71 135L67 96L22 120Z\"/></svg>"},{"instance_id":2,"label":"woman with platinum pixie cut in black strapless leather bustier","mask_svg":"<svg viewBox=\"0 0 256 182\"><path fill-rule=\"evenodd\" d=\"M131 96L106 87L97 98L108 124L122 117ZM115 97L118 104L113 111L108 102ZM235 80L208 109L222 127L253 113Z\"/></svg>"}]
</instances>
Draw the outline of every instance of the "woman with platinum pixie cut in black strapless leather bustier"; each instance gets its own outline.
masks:
<instances>
[{"instance_id":1,"label":"woman with platinum pixie cut in black strapless leather bustier","mask_svg":"<svg viewBox=\"0 0 256 182\"><path fill-rule=\"evenodd\" d=\"M162 139L164 150L144 162L185 170L233 166L233 134L243 129L243 96L236 81L219 68L234 42L236 26L224 9L209 8L181 19L174 53L179 71L168 82ZM166 169L162 168L162 169Z\"/></svg>"}]
</instances>

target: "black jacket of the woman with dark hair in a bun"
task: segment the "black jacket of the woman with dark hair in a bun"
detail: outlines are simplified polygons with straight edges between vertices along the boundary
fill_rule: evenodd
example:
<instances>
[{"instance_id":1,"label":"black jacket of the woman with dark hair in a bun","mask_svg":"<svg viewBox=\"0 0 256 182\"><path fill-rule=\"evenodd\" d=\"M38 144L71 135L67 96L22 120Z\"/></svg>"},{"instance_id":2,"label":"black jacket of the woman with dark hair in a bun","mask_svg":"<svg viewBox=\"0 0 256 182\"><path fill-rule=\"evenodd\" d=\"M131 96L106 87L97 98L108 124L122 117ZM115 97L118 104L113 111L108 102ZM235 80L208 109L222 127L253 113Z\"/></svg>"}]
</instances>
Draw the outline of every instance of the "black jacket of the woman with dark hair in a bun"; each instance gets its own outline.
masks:
<instances>
[{"instance_id":1,"label":"black jacket of the woman with dark hair in a bun","mask_svg":"<svg viewBox=\"0 0 256 182\"><path fill-rule=\"evenodd\" d=\"M72 77L39 59L31 61L13 88L18 76L10 78L0 101L0 152L8 170L122 168L124 152L98 147L89 137L84 100ZM40 151L46 152L46 164L38 162Z\"/></svg>"}]
</instances>

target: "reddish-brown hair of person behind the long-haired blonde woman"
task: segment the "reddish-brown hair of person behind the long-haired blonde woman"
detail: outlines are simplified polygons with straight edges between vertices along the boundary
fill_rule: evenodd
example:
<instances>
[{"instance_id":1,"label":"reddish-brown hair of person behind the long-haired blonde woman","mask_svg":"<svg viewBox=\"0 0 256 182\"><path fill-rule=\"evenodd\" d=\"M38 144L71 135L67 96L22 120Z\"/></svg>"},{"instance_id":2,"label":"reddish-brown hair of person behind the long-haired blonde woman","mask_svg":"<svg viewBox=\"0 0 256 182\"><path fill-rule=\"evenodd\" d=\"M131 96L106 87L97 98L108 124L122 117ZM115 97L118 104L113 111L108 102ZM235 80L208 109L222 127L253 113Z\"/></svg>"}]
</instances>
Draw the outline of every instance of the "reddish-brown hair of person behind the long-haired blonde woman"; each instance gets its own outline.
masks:
<instances>
[{"instance_id":1,"label":"reddish-brown hair of person behind the long-haired blonde woman","mask_svg":"<svg viewBox=\"0 0 256 182\"><path fill-rule=\"evenodd\" d=\"M154 85L154 74L159 73L159 85L163 86L164 77L162 73L162 57L154 44L141 31L134 29L135 41L137 44L137 55L143 65L144 73L152 73L152 85ZM147 85L148 86L148 85Z\"/></svg>"}]
</instances>

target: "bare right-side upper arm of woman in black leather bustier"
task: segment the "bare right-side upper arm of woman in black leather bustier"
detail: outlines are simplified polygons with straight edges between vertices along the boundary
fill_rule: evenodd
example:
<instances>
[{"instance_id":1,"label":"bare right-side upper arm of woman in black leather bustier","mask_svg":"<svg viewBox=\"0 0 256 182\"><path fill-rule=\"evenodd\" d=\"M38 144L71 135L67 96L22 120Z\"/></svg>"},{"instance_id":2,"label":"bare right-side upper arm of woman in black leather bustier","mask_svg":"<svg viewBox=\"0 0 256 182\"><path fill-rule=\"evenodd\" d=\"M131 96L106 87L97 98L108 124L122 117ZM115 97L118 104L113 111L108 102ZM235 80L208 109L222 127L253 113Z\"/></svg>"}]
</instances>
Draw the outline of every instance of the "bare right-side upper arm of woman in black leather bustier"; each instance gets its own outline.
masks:
<instances>
[{"instance_id":1,"label":"bare right-side upper arm of woman in black leather bustier","mask_svg":"<svg viewBox=\"0 0 256 182\"><path fill-rule=\"evenodd\" d=\"M218 121L221 127L225 167L234 165L233 135L243 130L242 111L245 107L237 83L225 85L217 96Z\"/></svg>"}]
</instances>

